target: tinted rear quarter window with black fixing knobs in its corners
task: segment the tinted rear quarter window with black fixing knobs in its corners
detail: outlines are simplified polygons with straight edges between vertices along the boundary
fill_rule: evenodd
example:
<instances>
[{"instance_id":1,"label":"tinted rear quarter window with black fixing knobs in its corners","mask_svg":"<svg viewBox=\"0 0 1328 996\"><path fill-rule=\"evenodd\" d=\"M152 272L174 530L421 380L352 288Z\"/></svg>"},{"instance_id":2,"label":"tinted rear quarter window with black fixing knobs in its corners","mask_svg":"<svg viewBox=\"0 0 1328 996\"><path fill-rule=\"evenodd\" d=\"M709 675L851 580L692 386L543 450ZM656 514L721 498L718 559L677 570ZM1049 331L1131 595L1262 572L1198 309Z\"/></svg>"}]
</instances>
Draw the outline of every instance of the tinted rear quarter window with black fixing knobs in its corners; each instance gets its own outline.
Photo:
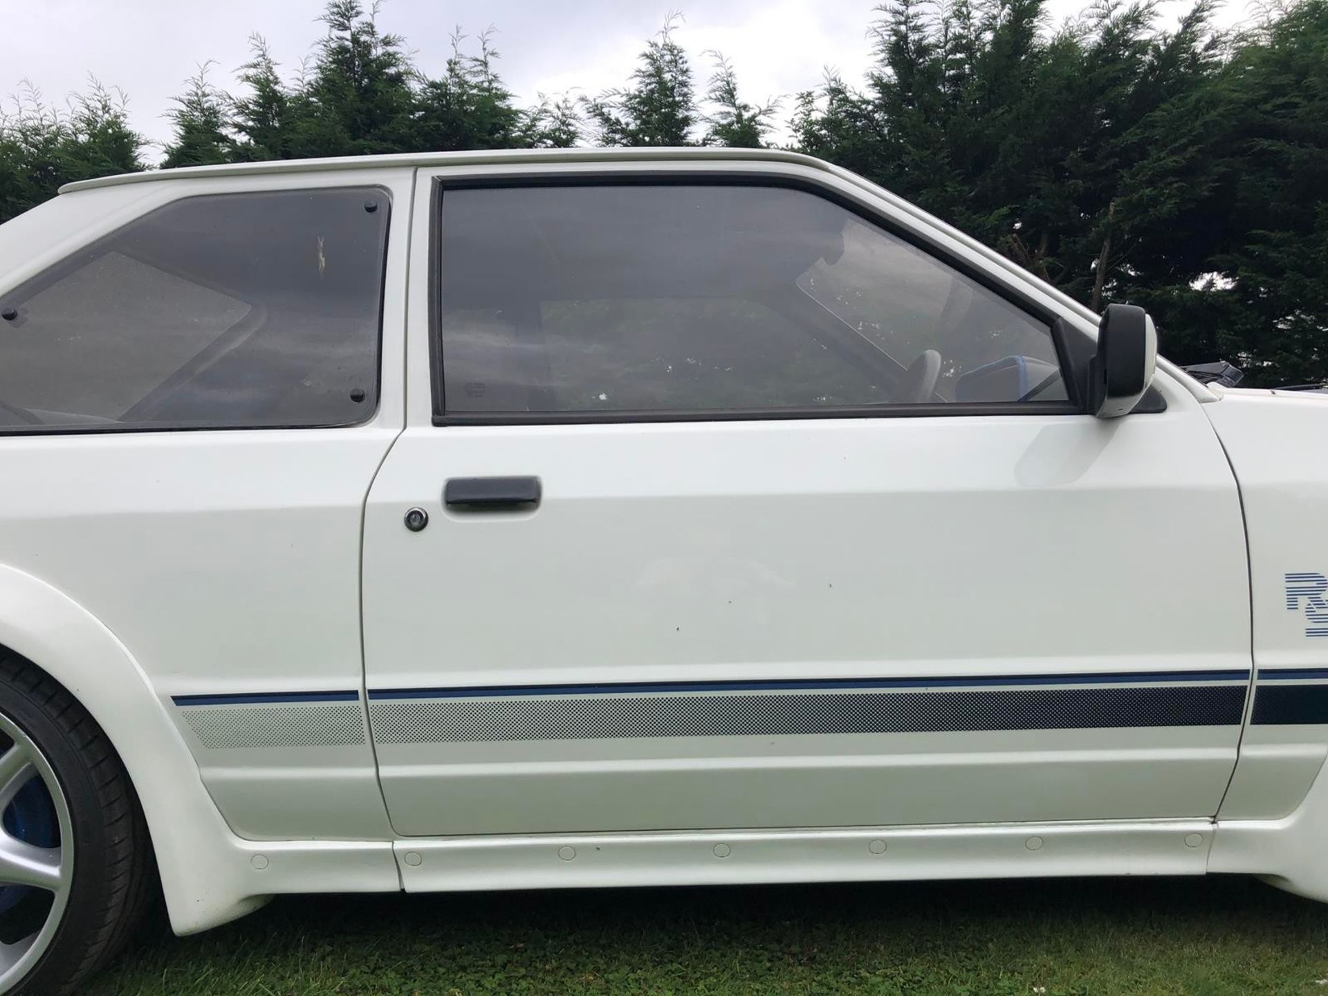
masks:
<instances>
[{"instance_id":1,"label":"tinted rear quarter window with black fixing knobs in its corners","mask_svg":"<svg viewBox=\"0 0 1328 996\"><path fill-rule=\"evenodd\" d=\"M364 421L388 214L377 189L224 194L100 239L0 296L0 428Z\"/></svg>"}]
</instances>

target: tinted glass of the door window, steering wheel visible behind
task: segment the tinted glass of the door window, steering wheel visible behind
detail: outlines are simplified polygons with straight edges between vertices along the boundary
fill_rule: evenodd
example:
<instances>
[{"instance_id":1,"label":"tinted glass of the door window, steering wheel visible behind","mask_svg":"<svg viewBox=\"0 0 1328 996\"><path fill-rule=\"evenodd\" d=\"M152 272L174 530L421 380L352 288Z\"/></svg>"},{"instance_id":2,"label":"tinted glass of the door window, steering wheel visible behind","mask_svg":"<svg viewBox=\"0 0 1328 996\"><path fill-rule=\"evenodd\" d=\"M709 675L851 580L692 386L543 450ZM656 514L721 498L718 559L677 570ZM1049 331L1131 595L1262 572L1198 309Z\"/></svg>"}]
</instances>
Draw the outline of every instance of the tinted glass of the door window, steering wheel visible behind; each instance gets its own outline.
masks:
<instances>
[{"instance_id":1,"label":"tinted glass of the door window, steering wheel visible behind","mask_svg":"<svg viewBox=\"0 0 1328 996\"><path fill-rule=\"evenodd\" d=\"M1066 400L1045 323L799 190L449 190L441 244L449 413Z\"/></svg>"}]
</instances>

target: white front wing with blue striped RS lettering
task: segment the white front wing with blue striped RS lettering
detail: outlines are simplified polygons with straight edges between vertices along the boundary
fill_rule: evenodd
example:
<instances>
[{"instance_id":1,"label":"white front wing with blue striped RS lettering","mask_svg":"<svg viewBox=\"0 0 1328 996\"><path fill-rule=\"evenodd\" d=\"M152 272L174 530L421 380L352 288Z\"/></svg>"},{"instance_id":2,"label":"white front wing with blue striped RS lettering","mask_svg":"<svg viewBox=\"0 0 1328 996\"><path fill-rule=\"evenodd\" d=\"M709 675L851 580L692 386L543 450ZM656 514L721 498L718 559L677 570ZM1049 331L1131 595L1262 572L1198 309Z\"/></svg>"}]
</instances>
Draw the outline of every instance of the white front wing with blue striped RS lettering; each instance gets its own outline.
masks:
<instances>
[{"instance_id":1,"label":"white front wing with blue striped RS lettering","mask_svg":"<svg viewBox=\"0 0 1328 996\"><path fill-rule=\"evenodd\" d=\"M1258 679L1240 768L1219 814L1212 870L1256 871L1316 899L1328 898L1321 850L1328 725L1274 725L1262 722L1260 713L1292 705L1297 689L1328 695L1328 611L1296 598L1288 578L1321 575L1328 564L1321 526L1328 466L1315 457L1328 429L1325 401L1323 394L1226 390L1220 404L1206 409L1246 509Z\"/></svg>"}]
</instances>

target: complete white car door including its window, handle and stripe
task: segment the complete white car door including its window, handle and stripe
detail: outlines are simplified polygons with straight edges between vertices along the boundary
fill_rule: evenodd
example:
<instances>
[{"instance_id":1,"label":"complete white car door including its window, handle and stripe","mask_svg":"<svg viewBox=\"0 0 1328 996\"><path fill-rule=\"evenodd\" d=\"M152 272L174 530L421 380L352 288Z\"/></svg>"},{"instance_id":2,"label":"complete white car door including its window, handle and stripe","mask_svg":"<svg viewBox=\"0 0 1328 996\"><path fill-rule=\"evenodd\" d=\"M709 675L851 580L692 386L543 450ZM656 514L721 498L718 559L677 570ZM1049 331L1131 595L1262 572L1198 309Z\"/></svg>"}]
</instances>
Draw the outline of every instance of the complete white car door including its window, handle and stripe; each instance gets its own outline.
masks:
<instances>
[{"instance_id":1,"label":"complete white car door including its window, handle and stripe","mask_svg":"<svg viewBox=\"0 0 1328 996\"><path fill-rule=\"evenodd\" d=\"M397 833L1215 813L1248 588L1194 397L1082 414L1035 286L696 169L418 181L364 538Z\"/></svg>"}]
</instances>

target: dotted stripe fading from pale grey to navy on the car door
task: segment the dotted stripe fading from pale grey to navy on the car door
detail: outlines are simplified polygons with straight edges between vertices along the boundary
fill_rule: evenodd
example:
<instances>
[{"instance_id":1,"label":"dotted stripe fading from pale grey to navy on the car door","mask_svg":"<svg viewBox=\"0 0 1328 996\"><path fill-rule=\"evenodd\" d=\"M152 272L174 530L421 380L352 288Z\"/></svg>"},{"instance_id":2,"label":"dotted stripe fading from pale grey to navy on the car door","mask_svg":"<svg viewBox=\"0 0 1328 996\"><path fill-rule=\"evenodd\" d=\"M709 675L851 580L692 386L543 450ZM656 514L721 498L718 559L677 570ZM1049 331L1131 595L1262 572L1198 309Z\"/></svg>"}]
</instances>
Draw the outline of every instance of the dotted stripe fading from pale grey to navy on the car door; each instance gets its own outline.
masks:
<instances>
[{"instance_id":1,"label":"dotted stripe fading from pale grey to navy on the car door","mask_svg":"<svg viewBox=\"0 0 1328 996\"><path fill-rule=\"evenodd\" d=\"M513 691L517 696L526 692ZM527 697L505 696L501 689L486 695L458 689L448 695L448 689L438 689L437 697L426 691L372 692L374 740L436 744L1234 725L1244 709L1246 681L1238 672L1235 680L1220 684L1143 687Z\"/></svg>"}]
</instances>

